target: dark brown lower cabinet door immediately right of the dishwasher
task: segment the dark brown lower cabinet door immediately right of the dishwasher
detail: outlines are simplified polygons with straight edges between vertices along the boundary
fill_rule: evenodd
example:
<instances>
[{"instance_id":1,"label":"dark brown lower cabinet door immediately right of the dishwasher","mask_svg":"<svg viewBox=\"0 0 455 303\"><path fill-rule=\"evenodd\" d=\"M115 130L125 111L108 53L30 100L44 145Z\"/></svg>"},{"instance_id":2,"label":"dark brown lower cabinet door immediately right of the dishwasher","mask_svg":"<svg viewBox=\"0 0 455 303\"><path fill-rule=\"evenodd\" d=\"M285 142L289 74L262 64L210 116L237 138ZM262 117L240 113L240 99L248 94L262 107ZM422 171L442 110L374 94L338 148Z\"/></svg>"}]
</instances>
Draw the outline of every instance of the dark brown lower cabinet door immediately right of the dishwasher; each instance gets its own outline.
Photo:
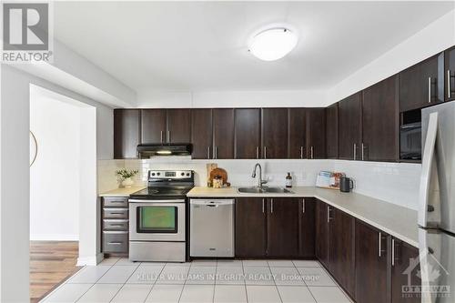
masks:
<instances>
[{"instance_id":1,"label":"dark brown lower cabinet door immediately right of the dishwasher","mask_svg":"<svg viewBox=\"0 0 455 303\"><path fill-rule=\"evenodd\" d=\"M236 199L236 257L266 256L266 199Z\"/></svg>"}]
</instances>

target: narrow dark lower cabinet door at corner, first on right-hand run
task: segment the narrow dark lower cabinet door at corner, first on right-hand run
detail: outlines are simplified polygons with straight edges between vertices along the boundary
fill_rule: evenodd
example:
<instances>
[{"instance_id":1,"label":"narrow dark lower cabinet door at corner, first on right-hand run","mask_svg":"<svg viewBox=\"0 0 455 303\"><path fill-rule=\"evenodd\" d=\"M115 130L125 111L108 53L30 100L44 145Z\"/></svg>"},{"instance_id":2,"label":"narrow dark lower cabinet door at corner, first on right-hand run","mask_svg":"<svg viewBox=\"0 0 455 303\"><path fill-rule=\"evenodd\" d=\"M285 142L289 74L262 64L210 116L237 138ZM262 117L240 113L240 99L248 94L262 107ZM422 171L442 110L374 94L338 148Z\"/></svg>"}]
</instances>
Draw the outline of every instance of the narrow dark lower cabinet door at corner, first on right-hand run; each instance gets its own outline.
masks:
<instances>
[{"instance_id":1,"label":"narrow dark lower cabinet door at corner, first on right-hand run","mask_svg":"<svg viewBox=\"0 0 455 303\"><path fill-rule=\"evenodd\" d=\"M329 268L329 206L324 202L316 204L316 257Z\"/></svg>"}]
</instances>

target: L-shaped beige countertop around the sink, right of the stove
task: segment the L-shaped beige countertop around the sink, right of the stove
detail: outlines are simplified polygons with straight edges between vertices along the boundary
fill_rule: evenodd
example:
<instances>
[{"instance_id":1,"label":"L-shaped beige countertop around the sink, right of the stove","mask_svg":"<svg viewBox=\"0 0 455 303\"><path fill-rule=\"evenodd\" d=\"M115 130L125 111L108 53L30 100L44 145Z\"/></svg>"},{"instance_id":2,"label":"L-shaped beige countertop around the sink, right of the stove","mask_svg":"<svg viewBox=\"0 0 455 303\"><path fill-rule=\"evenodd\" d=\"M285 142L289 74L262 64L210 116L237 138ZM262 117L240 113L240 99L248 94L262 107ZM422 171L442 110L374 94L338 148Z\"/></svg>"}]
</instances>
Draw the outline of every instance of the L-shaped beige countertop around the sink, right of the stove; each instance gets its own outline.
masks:
<instances>
[{"instance_id":1,"label":"L-shaped beige countertop around the sink, right of the stove","mask_svg":"<svg viewBox=\"0 0 455 303\"><path fill-rule=\"evenodd\" d=\"M414 247L419 246L417 211L373 197L335 189L292 187L293 194L244 194L238 187L194 187L187 197L316 197Z\"/></svg>"}]
</instances>

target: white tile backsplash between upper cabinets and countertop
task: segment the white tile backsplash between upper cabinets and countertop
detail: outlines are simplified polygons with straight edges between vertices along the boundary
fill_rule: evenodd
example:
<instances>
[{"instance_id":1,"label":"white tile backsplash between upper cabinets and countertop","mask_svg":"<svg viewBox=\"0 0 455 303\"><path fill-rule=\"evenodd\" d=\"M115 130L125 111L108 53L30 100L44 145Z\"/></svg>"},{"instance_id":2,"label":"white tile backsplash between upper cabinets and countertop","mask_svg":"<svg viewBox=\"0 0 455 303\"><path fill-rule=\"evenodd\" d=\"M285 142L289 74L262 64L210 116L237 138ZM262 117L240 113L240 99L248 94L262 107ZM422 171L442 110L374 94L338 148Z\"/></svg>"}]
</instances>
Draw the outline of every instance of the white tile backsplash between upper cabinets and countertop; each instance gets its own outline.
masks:
<instances>
[{"instance_id":1,"label":"white tile backsplash between upper cabinets and countertop","mask_svg":"<svg viewBox=\"0 0 455 303\"><path fill-rule=\"evenodd\" d=\"M98 160L98 192L119 186L115 171L119 168L137 169L136 185L147 185L150 169L191 169L195 171L197 186L207 184L207 163L217 163L227 170L232 186L254 186L253 167L260 163L268 185L284 186L291 172L294 186L314 186L320 170L344 172L354 179L354 191L369 197L417 209L420 164L360 162L344 160L293 160L293 159L236 159L193 160L190 157L157 157L143 160Z\"/></svg>"}]
</instances>

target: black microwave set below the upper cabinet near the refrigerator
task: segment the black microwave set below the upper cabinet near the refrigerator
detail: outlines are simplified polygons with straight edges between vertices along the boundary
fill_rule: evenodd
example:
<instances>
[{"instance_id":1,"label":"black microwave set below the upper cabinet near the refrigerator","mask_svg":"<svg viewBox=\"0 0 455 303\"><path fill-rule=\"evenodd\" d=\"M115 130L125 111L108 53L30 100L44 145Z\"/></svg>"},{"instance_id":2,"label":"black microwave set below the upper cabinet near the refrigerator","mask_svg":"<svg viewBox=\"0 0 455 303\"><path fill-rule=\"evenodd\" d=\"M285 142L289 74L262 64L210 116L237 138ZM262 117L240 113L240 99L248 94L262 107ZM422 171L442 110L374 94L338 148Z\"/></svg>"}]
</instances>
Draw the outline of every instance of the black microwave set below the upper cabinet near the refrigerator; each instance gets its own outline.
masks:
<instances>
[{"instance_id":1,"label":"black microwave set below the upper cabinet near the refrigerator","mask_svg":"<svg viewBox=\"0 0 455 303\"><path fill-rule=\"evenodd\" d=\"M422 125L420 122L399 127L399 158L401 160L421 160Z\"/></svg>"}]
</instances>

